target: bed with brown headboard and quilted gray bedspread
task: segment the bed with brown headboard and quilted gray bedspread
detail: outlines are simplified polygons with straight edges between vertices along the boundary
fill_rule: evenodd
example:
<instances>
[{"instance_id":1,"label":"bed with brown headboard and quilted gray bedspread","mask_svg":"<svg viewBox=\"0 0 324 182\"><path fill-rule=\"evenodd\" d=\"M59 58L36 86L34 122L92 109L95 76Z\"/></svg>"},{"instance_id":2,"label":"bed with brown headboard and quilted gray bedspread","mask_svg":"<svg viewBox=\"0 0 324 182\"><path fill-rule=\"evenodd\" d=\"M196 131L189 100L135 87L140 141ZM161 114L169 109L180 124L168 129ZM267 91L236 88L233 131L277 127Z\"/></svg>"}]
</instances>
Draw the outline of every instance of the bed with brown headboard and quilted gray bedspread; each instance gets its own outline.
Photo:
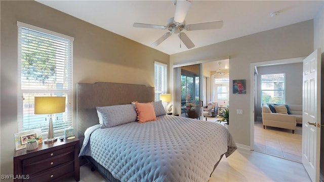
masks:
<instances>
[{"instance_id":1,"label":"bed with brown headboard and quilted gray bedspread","mask_svg":"<svg viewBox=\"0 0 324 182\"><path fill-rule=\"evenodd\" d=\"M152 103L157 120L139 123L133 101L154 101L154 88L77 84L79 156L110 181L208 181L222 156L236 150L221 124L166 115L160 102ZM104 127L105 118L112 126Z\"/></svg>"}]
</instances>

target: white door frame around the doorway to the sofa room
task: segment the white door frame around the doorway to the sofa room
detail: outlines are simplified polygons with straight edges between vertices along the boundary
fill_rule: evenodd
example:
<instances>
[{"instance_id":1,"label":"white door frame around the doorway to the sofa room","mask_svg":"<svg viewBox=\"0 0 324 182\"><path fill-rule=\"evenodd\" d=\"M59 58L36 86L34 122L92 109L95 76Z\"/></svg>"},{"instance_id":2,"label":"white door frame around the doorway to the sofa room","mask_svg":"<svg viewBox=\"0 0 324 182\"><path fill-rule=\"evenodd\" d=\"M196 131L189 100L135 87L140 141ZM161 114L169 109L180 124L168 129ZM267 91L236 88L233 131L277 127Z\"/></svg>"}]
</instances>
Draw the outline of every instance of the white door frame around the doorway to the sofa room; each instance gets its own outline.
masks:
<instances>
[{"instance_id":1,"label":"white door frame around the doorway to the sofa room","mask_svg":"<svg viewBox=\"0 0 324 182\"><path fill-rule=\"evenodd\" d=\"M289 58L289 59L281 59L281 60L272 60L272 61L263 61L256 62L250 64L250 90L255 90L255 67L258 66L270 66L270 65L280 65L280 64L292 64L292 63L302 63L306 57L298 57L298 58ZM302 88L301 88L302 89ZM250 150L254 150L254 116L255 116L255 94L251 92L250 95ZM252 104L253 103L253 104Z\"/></svg>"}]
</instances>

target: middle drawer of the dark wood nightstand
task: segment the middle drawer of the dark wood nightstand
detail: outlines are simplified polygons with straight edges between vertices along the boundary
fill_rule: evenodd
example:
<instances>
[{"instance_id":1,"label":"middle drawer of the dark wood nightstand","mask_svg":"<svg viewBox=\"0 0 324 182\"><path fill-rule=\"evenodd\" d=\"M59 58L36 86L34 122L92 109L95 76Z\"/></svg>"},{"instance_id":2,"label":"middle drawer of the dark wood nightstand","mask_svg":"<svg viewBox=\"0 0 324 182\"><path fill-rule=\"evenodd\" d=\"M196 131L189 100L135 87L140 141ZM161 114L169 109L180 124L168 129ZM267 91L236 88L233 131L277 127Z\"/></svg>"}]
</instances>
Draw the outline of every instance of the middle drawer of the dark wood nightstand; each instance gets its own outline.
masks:
<instances>
[{"instance_id":1,"label":"middle drawer of the dark wood nightstand","mask_svg":"<svg viewBox=\"0 0 324 182\"><path fill-rule=\"evenodd\" d=\"M34 158L31 158L31 159L24 160L23 171L25 174L35 174L37 172L41 172L73 160L74 160L73 151L56 155L55 157L51 157L49 159L38 160L35 162L30 162L30 161L34 161Z\"/></svg>"}]
</instances>

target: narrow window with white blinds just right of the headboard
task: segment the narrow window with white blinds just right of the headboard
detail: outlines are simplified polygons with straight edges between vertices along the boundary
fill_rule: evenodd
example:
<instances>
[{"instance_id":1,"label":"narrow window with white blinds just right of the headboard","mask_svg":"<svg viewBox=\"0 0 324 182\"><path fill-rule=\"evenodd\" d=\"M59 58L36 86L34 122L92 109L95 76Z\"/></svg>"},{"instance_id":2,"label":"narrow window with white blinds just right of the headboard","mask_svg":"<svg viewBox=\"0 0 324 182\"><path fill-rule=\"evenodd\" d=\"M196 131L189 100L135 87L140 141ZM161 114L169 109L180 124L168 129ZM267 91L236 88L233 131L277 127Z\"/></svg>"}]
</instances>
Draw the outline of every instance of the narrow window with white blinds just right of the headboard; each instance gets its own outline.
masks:
<instances>
[{"instance_id":1,"label":"narrow window with white blinds just right of the headboard","mask_svg":"<svg viewBox=\"0 0 324 182\"><path fill-rule=\"evenodd\" d=\"M154 62L155 101L160 100L161 94L167 93L167 65Z\"/></svg>"}]
</instances>

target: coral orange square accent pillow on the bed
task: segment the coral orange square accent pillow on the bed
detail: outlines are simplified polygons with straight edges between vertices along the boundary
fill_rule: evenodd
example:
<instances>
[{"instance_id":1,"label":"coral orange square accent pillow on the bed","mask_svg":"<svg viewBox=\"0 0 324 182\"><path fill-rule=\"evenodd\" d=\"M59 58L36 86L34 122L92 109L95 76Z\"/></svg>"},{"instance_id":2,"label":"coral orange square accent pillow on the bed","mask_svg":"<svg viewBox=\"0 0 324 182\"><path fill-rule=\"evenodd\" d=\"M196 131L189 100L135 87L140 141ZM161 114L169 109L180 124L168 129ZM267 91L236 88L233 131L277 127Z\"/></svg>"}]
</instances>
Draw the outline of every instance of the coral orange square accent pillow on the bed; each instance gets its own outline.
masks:
<instances>
[{"instance_id":1,"label":"coral orange square accent pillow on the bed","mask_svg":"<svg viewBox=\"0 0 324 182\"><path fill-rule=\"evenodd\" d=\"M135 103L135 110L137 112L137 120L139 123L146 121L157 120L153 103Z\"/></svg>"}]
</instances>

